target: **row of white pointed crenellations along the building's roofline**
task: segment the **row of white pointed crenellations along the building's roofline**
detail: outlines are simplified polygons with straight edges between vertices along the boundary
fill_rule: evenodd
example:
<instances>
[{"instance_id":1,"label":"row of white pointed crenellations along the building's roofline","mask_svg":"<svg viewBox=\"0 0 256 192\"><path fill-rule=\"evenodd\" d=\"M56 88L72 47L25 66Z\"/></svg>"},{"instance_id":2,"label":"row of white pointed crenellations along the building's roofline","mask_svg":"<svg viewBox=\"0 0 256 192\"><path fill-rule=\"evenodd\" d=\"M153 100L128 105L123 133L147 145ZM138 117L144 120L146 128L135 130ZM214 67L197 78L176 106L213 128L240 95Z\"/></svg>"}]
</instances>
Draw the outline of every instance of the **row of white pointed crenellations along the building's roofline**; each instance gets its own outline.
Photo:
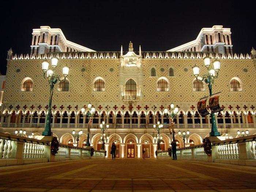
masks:
<instances>
[{"instance_id":1,"label":"row of white pointed crenellations along the building's roofline","mask_svg":"<svg viewBox=\"0 0 256 192\"><path fill-rule=\"evenodd\" d=\"M139 54L139 52L135 52ZM251 59L251 54L234 53L218 54L214 52L141 52L143 59L202 59L206 56L212 59ZM12 60L22 59L51 59L53 56L58 59L118 59L121 52L52 52L45 54L12 54Z\"/></svg>"}]
</instances>

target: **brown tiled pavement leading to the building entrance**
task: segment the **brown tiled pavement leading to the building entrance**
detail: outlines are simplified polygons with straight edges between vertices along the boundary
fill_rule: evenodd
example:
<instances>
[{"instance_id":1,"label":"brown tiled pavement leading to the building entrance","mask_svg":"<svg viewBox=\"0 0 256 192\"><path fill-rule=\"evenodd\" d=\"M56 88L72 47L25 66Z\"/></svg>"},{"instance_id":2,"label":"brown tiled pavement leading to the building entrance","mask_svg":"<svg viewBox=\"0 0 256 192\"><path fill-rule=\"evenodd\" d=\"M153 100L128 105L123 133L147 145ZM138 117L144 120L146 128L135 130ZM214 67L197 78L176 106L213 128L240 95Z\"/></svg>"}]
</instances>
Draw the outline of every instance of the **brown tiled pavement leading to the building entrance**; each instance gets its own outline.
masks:
<instances>
[{"instance_id":1,"label":"brown tiled pavement leading to the building entrance","mask_svg":"<svg viewBox=\"0 0 256 192\"><path fill-rule=\"evenodd\" d=\"M0 167L0 191L256 191L256 167L170 159L84 159Z\"/></svg>"}]
</instances>

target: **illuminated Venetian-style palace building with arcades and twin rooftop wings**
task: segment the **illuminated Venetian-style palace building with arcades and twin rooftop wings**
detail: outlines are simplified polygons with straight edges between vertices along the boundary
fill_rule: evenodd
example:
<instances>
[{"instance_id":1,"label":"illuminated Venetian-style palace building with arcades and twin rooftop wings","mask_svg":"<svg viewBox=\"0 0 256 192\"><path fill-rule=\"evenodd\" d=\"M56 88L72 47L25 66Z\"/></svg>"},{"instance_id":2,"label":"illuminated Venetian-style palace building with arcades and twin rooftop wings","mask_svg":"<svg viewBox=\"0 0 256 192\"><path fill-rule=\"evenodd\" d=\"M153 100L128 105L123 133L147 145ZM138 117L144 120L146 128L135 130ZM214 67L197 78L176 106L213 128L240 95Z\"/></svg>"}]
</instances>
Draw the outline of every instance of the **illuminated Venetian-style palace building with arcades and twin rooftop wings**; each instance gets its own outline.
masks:
<instances>
[{"instance_id":1,"label":"illuminated Venetian-style palace building with arcades and twin rooftop wings","mask_svg":"<svg viewBox=\"0 0 256 192\"><path fill-rule=\"evenodd\" d=\"M200 116L197 101L209 95L207 84L193 76L192 67L203 67L203 58L221 62L219 77L213 86L221 92L222 112L215 114L218 131L237 137L237 130L255 134L256 128L256 52L232 52L230 29L222 26L203 28L197 39L168 51L129 50L96 52L68 41L60 29L42 26L33 30L31 53L7 57L6 87L1 106L0 129L14 134L16 129L27 135L41 135L49 108L49 84L42 76L42 62L58 58L56 71L69 67L65 82L56 84L53 92L52 132L64 144L75 143L72 130L83 131L78 145L87 140L89 118L87 104L96 109L90 129L90 143L101 148L99 124L109 124L105 149L117 144L118 157L154 157L157 131L153 125L163 124L161 149L166 150L172 136L164 109L172 102L178 107L175 131L190 131L186 146L202 143L209 135L211 118ZM57 35L57 36L56 36ZM39 40L38 40L39 39ZM202 68L206 73L206 69ZM81 109L85 108L85 113ZM207 106L208 108L208 106ZM169 113L169 112L168 112ZM175 135L179 147L182 139Z\"/></svg>"}]
</instances>

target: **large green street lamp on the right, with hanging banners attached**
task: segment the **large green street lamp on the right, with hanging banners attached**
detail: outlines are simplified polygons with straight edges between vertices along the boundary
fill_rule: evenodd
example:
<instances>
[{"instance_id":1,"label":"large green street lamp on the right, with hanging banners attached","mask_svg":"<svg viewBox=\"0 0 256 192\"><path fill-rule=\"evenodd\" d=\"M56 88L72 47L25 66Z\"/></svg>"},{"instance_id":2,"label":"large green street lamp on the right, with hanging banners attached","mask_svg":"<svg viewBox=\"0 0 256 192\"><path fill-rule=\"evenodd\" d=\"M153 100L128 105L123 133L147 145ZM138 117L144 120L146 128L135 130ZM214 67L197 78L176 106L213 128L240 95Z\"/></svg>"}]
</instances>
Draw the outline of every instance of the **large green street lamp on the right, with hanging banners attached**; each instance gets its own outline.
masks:
<instances>
[{"instance_id":1,"label":"large green street lamp on the right, with hanging banners attached","mask_svg":"<svg viewBox=\"0 0 256 192\"><path fill-rule=\"evenodd\" d=\"M195 65L193 67L193 74L194 74L196 80L204 81L208 84L208 88L209 88L209 92L210 92L210 96L211 96L212 95L212 85L214 84L214 79L218 78L221 62L216 59L213 62L213 68L210 68L211 67L210 57L204 57L204 66L207 68L208 73L203 74L202 79L201 78L198 79L199 67L197 65ZM211 126L210 136L220 136L221 133L218 132L214 113L211 113L211 125L212 126Z\"/></svg>"}]
</instances>

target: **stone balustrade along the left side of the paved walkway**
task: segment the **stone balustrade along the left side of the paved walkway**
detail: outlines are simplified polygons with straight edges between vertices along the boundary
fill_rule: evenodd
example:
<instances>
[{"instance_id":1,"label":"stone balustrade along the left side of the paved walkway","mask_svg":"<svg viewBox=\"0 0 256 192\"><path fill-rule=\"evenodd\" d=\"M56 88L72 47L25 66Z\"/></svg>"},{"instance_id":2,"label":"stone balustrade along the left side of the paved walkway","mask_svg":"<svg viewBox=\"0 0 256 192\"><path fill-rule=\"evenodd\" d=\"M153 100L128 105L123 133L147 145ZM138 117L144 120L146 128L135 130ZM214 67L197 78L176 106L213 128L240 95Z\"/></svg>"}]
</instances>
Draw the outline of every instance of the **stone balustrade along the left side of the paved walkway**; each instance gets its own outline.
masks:
<instances>
[{"instance_id":1,"label":"stone balustrade along the left side of the paved walkway","mask_svg":"<svg viewBox=\"0 0 256 192\"><path fill-rule=\"evenodd\" d=\"M54 156L50 151L52 139L51 136L38 136L37 139L30 139L0 133L0 166L90 158L90 148L64 144L60 144L59 151ZM94 151L93 157L105 158L105 153Z\"/></svg>"}]
</instances>

